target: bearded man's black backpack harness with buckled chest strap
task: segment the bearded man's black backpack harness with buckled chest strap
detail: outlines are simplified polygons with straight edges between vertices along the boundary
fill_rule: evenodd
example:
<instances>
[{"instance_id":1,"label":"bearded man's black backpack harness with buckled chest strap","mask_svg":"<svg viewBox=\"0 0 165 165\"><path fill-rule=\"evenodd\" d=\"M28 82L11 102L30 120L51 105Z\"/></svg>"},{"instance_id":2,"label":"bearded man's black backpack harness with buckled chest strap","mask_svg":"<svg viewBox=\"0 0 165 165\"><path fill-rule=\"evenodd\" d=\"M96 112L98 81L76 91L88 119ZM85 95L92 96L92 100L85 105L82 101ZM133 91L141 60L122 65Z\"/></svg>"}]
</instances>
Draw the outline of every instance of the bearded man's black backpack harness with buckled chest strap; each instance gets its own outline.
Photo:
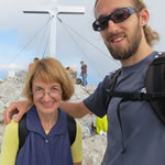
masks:
<instances>
[{"instance_id":1,"label":"bearded man's black backpack harness with buckled chest strap","mask_svg":"<svg viewBox=\"0 0 165 165\"><path fill-rule=\"evenodd\" d=\"M165 123L165 53L158 55L150 65L146 78L145 78L145 87L146 92L120 92L114 91L114 86L120 75L121 69L116 70L110 78L108 79L108 88L106 89L107 99L106 107L110 103L112 97L122 98L118 106L118 118L121 122L120 118L120 103L122 101L142 101L146 100L150 102L154 112L158 117L158 119Z\"/></svg>"}]
</instances>

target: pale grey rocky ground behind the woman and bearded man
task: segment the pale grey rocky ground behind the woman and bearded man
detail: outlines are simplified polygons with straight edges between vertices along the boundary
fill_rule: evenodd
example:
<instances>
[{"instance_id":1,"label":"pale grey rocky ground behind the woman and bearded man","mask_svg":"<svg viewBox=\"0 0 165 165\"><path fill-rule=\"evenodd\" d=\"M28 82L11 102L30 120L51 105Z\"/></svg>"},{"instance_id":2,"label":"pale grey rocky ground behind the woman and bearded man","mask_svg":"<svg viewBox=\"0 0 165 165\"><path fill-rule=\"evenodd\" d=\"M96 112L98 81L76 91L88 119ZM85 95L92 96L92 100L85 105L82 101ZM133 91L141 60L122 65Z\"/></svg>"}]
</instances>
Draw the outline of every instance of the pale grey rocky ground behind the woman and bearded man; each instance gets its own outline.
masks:
<instances>
[{"instance_id":1,"label":"pale grey rocky ground behind the woman and bearded man","mask_svg":"<svg viewBox=\"0 0 165 165\"><path fill-rule=\"evenodd\" d=\"M11 102L24 99L21 97L24 79L25 72L22 70L16 73L14 77L0 80L0 146L6 127L2 121L2 112ZM72 97L70 101L80 101L95 89L96 87L90 85L88 85L86 89L80 85L75 85L75 95ZM90 124L92 119L94 117L91 114L77 119L82 131L82 165L100 165L107 145L106 135L97 135L91 132Z\"/></svg>"}]
</instances>

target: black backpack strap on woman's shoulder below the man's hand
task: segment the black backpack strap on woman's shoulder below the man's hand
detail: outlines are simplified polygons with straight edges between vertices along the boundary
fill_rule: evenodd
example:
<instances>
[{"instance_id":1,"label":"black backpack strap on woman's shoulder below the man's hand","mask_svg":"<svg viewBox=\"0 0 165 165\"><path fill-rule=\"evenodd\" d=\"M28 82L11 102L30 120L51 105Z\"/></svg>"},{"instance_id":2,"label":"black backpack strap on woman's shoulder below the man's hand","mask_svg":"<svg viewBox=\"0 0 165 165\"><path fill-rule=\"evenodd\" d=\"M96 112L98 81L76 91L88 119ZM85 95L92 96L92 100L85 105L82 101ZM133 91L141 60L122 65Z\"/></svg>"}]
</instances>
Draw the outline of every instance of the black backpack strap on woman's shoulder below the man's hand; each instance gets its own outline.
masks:
<instances>
[{"instance_id":1,"label":"black backpack strap on woman's shoulder below the man's hand","mask_svg":"<svg viewBox=\"0 0 165 165\"><path fill-rule=\"evenodd\" d=\"M19 151L23 146L25 139L28 136L28 129L26 129L26 113L22 117L19 121Z\"/></svg>"}]
</instances>

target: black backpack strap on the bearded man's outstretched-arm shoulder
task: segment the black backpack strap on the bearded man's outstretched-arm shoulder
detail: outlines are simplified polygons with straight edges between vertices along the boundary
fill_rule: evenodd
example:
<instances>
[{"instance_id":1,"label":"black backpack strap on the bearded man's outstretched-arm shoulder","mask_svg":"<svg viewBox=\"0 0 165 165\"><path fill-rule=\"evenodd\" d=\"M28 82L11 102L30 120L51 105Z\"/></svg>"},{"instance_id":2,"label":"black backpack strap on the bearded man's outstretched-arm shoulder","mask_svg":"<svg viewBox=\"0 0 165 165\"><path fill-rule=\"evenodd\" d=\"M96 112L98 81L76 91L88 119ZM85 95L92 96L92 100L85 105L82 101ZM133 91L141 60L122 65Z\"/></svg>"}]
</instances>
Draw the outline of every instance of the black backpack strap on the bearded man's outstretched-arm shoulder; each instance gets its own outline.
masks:
<instances>
[{"instance_id":1,"label":"black backpack strap on the bearded man's outstretched-arm shoulder","mask_svg":"<svg viewBox=\"0 0 165 165\"><path fill-rule=\"evenodd\" d=\"M109 95L109 92L113 91L114 90L114 86L116 86L116 82L117 82L117 79L118 79L118 76L120 75L121 73L121 68L119 68L118 70L116 70L114 73L112 73L110 75L110 77L108 78L108 85L107 85L107 89L106 89L106 95L107 95L107 98L106 98L106 110L108 110L108 106L109 106L109 102L111 100L111 96Z\"/></svg>"}]
</instances>

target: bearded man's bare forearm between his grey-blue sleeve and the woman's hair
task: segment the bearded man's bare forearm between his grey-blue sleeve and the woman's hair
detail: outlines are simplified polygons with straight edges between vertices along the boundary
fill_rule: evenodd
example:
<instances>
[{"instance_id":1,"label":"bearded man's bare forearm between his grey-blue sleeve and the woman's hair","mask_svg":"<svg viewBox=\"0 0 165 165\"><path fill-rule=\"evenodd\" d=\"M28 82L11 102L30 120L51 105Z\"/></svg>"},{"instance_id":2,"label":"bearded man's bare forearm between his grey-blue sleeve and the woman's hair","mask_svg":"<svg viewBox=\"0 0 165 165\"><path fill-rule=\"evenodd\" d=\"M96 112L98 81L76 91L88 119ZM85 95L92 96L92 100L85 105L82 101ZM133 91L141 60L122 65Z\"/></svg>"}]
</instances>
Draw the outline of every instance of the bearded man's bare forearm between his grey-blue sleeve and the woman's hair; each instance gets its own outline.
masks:
<instances>
[{"instance_id":1,"label":"bearded man's bare forearm between his grey-blue sleeve and the woman's hair","mask_svg":"<svg viewBox=\"0 0 165 165\"><path fill-rule=\"evenodd\" d=\"M90 110L81 102L64 102L62 101L61 108L74 118L82 118L84 116L90 113Z\"/></svg>"}]
</instances>

